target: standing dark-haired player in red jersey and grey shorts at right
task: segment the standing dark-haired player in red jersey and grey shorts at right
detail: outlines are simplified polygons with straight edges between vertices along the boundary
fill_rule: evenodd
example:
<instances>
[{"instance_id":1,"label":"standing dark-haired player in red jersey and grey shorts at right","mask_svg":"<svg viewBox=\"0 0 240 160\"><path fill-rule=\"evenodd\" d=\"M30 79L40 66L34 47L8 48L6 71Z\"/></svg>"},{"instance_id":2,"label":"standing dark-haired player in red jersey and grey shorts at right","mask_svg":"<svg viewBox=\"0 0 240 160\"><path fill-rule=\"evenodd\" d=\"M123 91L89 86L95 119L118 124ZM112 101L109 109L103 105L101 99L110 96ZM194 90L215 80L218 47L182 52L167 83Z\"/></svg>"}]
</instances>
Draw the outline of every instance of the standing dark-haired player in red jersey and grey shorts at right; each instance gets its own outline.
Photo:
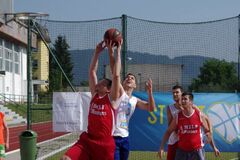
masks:
<instances>
[{"instance_id":1,"label":"standing dark-haired player in red jersey and grey shorts at right","mask_svg":"<svg viewBox=\"0 0 240 160\"><path fill-rule=\"evenodd\" d=\"M212 135L205 117L199 110L193 107L192 100L192 93L184 92L182 94L183 110L173 118L170 126L163 136L159 150L160 159L162 159L164 145L170 134L177 130L179 140L175 160L204 160L201 127L203 127L209 142L212 141Z\"/></svg>"}]
</instances>

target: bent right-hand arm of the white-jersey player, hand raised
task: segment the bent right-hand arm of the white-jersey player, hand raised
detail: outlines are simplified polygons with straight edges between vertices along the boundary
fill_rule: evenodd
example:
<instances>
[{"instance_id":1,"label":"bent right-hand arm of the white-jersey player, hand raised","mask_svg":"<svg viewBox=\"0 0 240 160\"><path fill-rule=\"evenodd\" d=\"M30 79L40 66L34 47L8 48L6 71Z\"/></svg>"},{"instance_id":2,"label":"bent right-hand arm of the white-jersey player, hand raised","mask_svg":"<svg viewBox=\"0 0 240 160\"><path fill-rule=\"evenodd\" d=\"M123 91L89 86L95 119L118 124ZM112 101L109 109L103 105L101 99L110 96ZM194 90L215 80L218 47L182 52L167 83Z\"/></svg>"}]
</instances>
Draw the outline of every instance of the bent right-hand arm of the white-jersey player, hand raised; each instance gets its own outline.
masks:
<instances>
[{"instance_id":1,"label":"bent right-hand arm of the white-jersey player, hand raised","mask_svg":"<svg viewBox=\"0 0 240 160\"><path fill-rule=\"evenodd\" d=\"M149 78L146 83L147 93L148 93L148 102L138 99L137 107L139 109L154 111L156 109L153 93L152 93L152 80Z\"/></svg>"}]
</instances>

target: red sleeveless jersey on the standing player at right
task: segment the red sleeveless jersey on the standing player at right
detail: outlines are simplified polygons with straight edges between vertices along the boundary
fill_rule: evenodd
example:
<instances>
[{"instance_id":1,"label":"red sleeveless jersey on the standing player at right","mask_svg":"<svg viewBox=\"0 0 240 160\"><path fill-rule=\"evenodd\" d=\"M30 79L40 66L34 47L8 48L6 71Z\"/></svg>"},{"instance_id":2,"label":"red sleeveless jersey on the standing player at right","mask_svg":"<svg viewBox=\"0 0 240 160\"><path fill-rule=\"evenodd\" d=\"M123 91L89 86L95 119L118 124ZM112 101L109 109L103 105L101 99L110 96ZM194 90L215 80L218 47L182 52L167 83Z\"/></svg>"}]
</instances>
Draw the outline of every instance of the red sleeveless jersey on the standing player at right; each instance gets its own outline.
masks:
<instances>
[{"instance_id":1,"label":"red sleeveless jersey on the standing player at right","mask_svg":"<svg viewBox=\"0 0 240 160\"><path fill-rule=\"evenodd\" d=\"M200 112L194 110L189 117L185 116L183 112L178 113L178 147L184 151L193 151L203 147L201 136L202 122L200 119Z\"/></svg>"}]
</instances>

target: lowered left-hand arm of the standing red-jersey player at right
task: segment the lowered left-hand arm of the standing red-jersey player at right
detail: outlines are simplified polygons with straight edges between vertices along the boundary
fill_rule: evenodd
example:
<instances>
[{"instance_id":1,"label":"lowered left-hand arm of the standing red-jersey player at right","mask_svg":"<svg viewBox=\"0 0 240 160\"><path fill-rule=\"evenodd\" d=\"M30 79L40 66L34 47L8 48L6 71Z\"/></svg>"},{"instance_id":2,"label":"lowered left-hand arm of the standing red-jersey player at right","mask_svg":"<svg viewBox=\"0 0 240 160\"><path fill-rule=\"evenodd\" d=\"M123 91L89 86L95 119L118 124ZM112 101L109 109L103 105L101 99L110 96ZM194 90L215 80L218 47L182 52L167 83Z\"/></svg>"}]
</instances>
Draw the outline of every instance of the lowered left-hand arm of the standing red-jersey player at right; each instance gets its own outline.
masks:
<instances>
[{"instance_id":1,"label":"lowered left-hand arm of the standing red-jersey player at right","mask_svg":"<svg viewBox=\"0 0 240 160\"><path fill-rule=\"evenodd\" d=\"M160 159L162 159L162 157L163 157L164 145L166 144L166 142L167 142L168 138L170 137L171 133L177 129L177 123L176 122L177 122L176 117L174 117L170 126L168 127L167 131L165 132L165 134L162 138L162 142L161 142L159 153L158 153Z\"/></svg>"}]
</instances>

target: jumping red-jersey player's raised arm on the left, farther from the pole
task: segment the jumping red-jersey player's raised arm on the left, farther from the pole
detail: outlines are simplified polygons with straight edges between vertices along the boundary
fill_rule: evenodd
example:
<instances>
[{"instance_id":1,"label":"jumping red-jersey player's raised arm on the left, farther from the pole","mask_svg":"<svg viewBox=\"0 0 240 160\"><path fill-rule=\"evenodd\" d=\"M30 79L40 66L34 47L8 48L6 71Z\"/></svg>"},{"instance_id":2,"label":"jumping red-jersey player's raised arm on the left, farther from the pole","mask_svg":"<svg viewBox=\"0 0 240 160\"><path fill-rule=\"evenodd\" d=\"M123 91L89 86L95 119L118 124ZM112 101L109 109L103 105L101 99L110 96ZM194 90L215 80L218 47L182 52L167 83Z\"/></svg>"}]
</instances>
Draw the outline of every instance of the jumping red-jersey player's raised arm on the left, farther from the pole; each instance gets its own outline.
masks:
<instances>
[{"instance_id":1,"label":"jumping red-jersey player's raised arm on the left, farther from the pole","mask_svg":"<svg viewBox=\"0 0 240 160\"><path fill-rule=\"evenodd\" d=\"M95 86L97 84L97 69L98 69L98 57L103 51L105 46L103 46L103 41L97 44L95 52L93 54L90 68L89 68L89 88L92 95L95 93Z\"/></svg>"}]
</instances>

